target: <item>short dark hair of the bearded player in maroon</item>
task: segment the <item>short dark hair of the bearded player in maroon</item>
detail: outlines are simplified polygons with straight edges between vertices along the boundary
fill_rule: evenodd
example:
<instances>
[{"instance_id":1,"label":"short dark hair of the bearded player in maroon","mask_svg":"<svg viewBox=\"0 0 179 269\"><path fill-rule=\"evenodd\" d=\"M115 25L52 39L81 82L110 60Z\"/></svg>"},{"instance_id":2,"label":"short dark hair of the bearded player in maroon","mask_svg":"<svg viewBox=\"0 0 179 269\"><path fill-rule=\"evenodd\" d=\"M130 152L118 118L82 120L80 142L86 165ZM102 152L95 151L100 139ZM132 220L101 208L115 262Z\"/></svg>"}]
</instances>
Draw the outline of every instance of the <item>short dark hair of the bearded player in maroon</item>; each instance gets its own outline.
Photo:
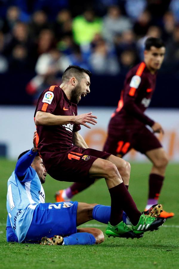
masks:
<instances>
[{"instance_id":1,"label":"short dark hair of the bearded player in maroon","mask_svg":"<svg viewBox=\"0 0 179 269\"><path fill-rule=\"evenodd\" d=\"M62 82L70 80L71 77L75 77L77 80L81 80L83 73L88 74L89 77L92 75L89 70L81 68L78 65L69 65L69 67L67 67L63 73Z\"/></svg>"}]
</instances>

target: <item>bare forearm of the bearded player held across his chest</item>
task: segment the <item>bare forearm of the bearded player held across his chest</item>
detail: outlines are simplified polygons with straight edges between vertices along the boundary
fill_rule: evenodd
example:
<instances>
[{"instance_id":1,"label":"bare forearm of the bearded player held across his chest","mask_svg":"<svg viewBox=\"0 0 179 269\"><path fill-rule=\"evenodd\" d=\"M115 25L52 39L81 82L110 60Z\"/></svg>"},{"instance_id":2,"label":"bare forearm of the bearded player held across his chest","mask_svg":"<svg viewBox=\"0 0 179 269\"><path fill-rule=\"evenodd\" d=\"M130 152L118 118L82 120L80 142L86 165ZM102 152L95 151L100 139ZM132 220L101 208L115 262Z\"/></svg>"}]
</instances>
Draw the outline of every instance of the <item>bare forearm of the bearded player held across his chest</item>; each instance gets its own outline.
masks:
<instances>
[{"instance_id":1,"label":"bare forearm of the bearded player held across his chest","mask_svg":"<svg viewBox=\"0 0 179 269\"><path fill-rule=\"evenodd\" d=\"M59 116L43 111L37 111L35 117L36 125L63 125L74 121L75 116Z\"/></svg>"}]
</instances>

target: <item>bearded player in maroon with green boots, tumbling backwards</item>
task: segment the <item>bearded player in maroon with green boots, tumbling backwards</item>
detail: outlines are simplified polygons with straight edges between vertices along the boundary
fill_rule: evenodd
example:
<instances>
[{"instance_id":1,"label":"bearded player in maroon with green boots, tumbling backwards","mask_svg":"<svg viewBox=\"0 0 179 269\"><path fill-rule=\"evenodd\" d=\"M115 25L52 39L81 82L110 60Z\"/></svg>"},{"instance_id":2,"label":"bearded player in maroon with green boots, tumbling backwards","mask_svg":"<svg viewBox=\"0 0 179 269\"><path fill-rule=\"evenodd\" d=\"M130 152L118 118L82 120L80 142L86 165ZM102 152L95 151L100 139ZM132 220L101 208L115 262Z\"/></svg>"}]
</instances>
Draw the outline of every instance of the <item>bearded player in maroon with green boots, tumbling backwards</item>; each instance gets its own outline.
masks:
<instances>
[{"instance_id":1,"label":"bearded player in maroon with green boots, tumbling backwards","mask_svg":"<svg viewBox=\"0 0 179 269\"><path fill-rule=\"evenodd\" d=\"M158 229L165 219L146 216L137 209L127 190L128 162L89 149L78 133L80 125L90 128L88 123L97 123L92 112L77 115L78 102L90 93L90 76L90 71L71 65L65 70L60 87L51 86L42 92L34 115L37 148L47 173L56 180L89 183L95 178L105 178L111 196L107 235L139 237L143 231ZM132 229L122 220L123 210Z\"/></svg>"}]
</instances>

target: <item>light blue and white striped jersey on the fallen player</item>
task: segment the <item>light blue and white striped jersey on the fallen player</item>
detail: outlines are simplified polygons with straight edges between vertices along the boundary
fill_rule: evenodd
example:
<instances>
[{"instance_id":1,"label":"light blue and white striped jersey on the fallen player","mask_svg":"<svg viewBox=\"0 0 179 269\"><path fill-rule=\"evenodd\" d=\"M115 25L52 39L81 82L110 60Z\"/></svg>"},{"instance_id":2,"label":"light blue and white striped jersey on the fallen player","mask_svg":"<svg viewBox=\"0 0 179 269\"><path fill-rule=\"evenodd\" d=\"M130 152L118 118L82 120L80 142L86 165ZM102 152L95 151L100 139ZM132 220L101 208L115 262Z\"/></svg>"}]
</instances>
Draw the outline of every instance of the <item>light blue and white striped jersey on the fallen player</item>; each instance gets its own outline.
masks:
<instances>
[{"instance_id":1,"label":"light blue and white striped jersey on the fallen player","mask_svg":"<svg viewBox=\"0 0 179 269\"><path fill-rule=\"evenodd\" d=\"M36 171L30 166L20 181L13 171L7 182L7 212L13 231L21 243L32 222L39 203L45 202L45 193Z\"/></svg>"}]
</instances>

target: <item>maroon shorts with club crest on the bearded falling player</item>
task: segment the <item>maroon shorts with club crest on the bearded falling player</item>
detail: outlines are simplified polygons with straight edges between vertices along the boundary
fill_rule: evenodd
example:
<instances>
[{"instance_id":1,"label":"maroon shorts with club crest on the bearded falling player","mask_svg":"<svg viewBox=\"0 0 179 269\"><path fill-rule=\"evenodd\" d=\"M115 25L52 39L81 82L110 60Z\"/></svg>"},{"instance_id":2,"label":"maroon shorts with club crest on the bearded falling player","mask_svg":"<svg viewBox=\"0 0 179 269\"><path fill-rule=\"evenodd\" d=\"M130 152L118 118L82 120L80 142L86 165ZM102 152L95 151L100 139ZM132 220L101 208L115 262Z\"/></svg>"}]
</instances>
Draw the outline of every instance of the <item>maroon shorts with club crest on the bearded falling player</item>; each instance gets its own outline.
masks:
<instances>
[{"instance_id":1,"label":"maroon shorts with club crest on the bearded falling player","mask_svg":"<svg viewBox=\"0 0 179 269\"><path fill-rule=\"evenodd\" d=\"M97 158L107 159L110 155L107 152L95 149L83 149L73 146L67 152L57 155L54 158L54 165L47 172L52 178L59 181L92 181L89 177L89 170L93 162Z\"/></svg>"}]
</instances>

